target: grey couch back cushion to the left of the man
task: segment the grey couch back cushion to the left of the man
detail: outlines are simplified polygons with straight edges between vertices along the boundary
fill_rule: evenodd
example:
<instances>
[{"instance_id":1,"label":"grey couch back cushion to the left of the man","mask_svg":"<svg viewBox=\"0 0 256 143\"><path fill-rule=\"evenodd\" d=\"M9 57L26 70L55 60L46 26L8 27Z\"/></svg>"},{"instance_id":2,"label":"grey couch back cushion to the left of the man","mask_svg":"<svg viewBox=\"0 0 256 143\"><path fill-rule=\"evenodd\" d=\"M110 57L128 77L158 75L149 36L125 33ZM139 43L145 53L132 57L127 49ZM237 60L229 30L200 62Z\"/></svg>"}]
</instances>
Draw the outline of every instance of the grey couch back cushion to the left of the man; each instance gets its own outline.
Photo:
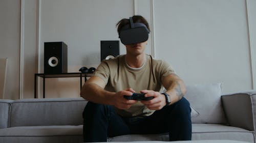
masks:
<instances>
[{"instance_id":1,"label":"grey couch back cushion to the left of the man","mask_svg":"<svg viewBox=\"0 0 256 143\"><path fill-rule=\"evenodd\" d=\"M10 127L82 125L82 98L15 100L11 105Z\"/></svg>"}]
</instances>

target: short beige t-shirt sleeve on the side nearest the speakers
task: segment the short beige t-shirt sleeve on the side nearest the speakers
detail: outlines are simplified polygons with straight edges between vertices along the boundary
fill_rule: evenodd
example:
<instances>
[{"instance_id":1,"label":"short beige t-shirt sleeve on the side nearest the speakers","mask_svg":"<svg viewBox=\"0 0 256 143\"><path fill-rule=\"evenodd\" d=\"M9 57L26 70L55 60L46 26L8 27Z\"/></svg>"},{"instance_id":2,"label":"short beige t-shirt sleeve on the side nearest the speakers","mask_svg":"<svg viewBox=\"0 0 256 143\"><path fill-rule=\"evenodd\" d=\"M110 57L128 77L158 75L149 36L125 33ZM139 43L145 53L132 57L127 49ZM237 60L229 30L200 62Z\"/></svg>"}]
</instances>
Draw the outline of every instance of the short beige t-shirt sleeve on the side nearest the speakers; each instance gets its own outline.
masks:
<instances>
[{"instance_id":1,"label":"short beige t-shirt sleeve on the side nearest the speakers","mask_svg":"<svg viewBox=\"0 0 256 143\"><path fill-rule=\"evenodd\" d=\"M106 63L105 61L102 61L92 76L98 76L104 80L105 84L108 83L109 76L110 76L110 68L108 63Z\"/></svg>"}]
</instances>

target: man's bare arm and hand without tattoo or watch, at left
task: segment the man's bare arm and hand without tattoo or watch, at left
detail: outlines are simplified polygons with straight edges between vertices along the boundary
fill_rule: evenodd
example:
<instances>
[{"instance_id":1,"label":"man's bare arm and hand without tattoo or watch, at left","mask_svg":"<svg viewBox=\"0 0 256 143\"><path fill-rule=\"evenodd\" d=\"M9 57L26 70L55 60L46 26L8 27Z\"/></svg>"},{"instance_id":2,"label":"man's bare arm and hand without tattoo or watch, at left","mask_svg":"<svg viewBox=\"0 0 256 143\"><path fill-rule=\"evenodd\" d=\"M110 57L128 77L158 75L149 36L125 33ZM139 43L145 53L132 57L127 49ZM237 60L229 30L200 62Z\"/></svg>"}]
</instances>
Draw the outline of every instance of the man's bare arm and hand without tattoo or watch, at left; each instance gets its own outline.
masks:
<instances>
[{"instance_id":1,"label":"man's bare arm and hand without tattoo or watch, at left","mask_svg":"<svg viewBox=\"0 0 256 143\"><path fill-rule=\"evenodd\" d=\"M80 96L88 101L114 105L120 109L129 109L132 104L136 103L135 100L126 100L123 95L132 95L132 89L123 90L120 92L109 92L104 90L105 82L98 76L92 76L88 79L82 87Z\"/></svg>"}]
</instances>

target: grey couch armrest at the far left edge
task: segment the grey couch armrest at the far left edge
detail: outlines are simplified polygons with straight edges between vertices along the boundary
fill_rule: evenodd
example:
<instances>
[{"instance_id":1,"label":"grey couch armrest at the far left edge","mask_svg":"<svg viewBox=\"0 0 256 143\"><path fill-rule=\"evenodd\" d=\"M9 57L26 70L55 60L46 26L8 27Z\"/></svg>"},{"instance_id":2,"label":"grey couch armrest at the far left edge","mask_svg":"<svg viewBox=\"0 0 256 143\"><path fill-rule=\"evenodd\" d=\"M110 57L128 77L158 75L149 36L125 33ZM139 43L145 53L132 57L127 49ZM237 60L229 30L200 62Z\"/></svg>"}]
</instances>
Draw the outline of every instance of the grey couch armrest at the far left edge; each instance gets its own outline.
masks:
<instances>
[{"instance_id":1,"label":"grey couch armrest at the far left edge","mask_svg":"<svg viewBox=\"0 0 256 143\"><path fill-rule=\"evenodd\" d=\"M9 111L13 100L0 99L0 129L7 128L9 124Z\"/></svg>"}]
</instances>

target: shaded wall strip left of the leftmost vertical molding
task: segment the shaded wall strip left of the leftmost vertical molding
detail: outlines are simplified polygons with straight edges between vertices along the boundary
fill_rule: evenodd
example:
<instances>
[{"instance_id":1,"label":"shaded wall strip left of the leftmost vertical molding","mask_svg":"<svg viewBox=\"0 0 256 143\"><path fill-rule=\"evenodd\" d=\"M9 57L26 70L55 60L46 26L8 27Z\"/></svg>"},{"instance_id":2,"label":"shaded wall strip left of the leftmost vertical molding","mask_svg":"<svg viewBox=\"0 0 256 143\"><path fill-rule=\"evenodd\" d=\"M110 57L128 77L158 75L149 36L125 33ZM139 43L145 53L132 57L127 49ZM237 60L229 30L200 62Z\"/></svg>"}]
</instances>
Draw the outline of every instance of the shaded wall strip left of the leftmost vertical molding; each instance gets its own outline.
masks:
<instances>
[{"instance_id":1,"label":"shaded wall strip left of the leftmost vertical molding","mask_svg":"<svg viewBox=\"0 0 256 143\"><path fill-rule=\"evenodd\" d=\"M0 57L8 58L5 98L17 99L19 95L20 2L0 1L0 19Z\"/></svg>"}]
</instances>

